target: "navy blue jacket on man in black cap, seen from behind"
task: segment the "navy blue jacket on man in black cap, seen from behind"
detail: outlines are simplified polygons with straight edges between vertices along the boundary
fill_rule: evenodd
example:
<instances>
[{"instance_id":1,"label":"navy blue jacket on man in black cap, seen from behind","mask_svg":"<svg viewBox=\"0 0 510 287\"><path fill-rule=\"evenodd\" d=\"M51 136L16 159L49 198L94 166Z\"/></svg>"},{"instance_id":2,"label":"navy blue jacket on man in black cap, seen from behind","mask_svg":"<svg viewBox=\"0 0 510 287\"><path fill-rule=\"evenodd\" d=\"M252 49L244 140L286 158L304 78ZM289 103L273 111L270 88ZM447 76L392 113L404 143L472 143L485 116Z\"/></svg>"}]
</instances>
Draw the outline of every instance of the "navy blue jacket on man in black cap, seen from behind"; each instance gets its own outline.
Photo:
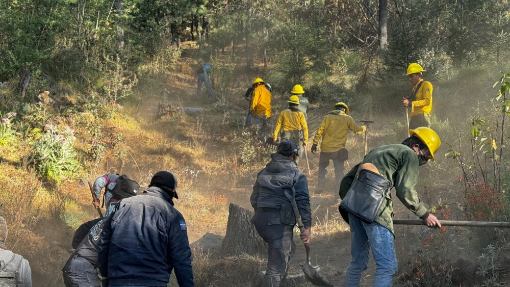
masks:
<instances>
[{"instance_id":1,"label":"navy blue jacket on man in black cap, seen from behind","mask_svg":"<svg viewBox=\"0 0 510 287\"><path fill-rule=\"evenodd\" d=\"M166 287L174 269L179 286L194 286L186 222L160 188L121 200L97 247L99 271L111 285Z\"/></svg>"}]
</instances>

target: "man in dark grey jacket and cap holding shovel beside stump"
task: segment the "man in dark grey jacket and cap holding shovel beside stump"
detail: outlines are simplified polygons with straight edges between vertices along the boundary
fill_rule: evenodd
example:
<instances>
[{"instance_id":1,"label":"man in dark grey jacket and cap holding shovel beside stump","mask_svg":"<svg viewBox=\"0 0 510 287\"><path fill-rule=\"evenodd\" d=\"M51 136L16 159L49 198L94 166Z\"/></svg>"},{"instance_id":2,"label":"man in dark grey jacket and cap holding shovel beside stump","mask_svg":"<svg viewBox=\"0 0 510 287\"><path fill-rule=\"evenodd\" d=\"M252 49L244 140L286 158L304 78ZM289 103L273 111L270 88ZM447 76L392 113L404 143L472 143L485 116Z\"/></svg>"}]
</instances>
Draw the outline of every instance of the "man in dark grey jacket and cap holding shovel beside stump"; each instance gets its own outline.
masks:
<instances>
[{"instance_id":1,"label":"man in dark grey jacket and cap holding shovel beside stump","mask_svg":"<svg viewBox=\"0 0 510 287\"><path fill-rule=\"evenodd\" d=\"M251 193L255 229L269 245L263 287L285 286L291 250L295 247L292 236L296 217L291 201L285 195L285 191L290 195L293 192L291 188L284 188L284 185L291 185L295 190L294 198L304 226L300 238L304 243L310 242L312 213L308 182L297 168L296 158L296 143L291 140L281 141L277 152L271 154L271 162L257 175Z\"/></svg>"}]
</instances>

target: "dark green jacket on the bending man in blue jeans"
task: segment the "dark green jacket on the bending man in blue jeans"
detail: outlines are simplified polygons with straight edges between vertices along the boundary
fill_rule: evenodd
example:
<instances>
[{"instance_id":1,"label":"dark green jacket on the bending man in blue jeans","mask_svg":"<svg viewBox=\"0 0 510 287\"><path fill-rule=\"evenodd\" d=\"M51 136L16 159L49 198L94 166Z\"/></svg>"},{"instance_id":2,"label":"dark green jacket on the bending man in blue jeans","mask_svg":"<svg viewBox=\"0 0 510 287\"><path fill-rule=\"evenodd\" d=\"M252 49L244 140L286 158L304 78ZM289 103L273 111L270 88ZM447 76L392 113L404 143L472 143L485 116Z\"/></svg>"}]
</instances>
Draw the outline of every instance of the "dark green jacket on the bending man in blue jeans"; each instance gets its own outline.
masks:
<instances>
[{"instance_id":1,"label":"dark green jacket on the bending man in blue jeans","mask_svg":"<svg viewBox=\"0 0 510 287\"><path fill-rule=\"evenodd\" d=\"M409 147L402 144L389 144L372 149L361 163L354 166L342 179L340 185L340 198L344 198L351 187L358 167L364 163L373 164L379 173L390 180L395 188L397 198L416 216L423 216L428 211L428 206L420 201L415 186L418 182L420 166L418 156ZM386 196L382 203L375 221L393 232L393 204L391 194Z\"/></svg>"}]
</instances>

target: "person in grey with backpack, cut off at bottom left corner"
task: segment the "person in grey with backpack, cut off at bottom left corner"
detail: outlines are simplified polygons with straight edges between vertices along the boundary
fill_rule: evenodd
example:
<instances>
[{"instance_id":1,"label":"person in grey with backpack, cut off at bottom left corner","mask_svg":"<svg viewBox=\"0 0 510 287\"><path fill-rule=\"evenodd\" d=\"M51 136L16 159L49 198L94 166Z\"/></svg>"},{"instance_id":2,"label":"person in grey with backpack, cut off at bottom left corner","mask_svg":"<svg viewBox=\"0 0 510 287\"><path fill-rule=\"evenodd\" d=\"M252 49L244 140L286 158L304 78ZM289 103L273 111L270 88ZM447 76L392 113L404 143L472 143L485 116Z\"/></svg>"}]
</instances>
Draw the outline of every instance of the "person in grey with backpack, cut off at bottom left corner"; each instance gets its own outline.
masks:
<instances>
[{"instance_id":1,"label":"person in grey with backpack, cut off at bottom left corner","mask_svg":"<svg viewBox=\"0 0 510 287\"><path fill-rule=\"evenodd\" d=\"M5 246L7 223L0 216L0 286L32 287L32 270L29 262Z\"/></svg>"}]
</instances>

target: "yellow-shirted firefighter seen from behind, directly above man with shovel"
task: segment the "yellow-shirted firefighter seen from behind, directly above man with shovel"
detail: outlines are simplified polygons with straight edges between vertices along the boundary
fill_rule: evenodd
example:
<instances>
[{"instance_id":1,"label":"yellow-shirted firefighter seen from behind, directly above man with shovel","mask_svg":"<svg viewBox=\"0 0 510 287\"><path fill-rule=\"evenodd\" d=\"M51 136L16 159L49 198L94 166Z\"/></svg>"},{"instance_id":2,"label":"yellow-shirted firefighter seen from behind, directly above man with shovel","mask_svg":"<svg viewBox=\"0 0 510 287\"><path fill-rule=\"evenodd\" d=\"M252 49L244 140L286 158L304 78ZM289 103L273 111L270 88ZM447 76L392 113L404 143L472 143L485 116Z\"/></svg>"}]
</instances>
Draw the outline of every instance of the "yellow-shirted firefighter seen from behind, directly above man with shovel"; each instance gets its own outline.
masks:
<instances>
[{"instance_id":1,"label":"yellow-shirted firefighter seen from behind, directly above man with shovel","mask_svg":"<svg viewBox=\"0 0 510 287\"><path fill-rule=\"evenodd\" d=\"M274 141L278 139L278 133L282 129L282 139L292 140L297 146L301 147L301 136L299 131L303 131L303 145L308 143L308 125L304 114L298 109L299 97L293 95L287 101L289 108L280 113L276 126L274 127Z\"/></svg>"}]
</instances>

